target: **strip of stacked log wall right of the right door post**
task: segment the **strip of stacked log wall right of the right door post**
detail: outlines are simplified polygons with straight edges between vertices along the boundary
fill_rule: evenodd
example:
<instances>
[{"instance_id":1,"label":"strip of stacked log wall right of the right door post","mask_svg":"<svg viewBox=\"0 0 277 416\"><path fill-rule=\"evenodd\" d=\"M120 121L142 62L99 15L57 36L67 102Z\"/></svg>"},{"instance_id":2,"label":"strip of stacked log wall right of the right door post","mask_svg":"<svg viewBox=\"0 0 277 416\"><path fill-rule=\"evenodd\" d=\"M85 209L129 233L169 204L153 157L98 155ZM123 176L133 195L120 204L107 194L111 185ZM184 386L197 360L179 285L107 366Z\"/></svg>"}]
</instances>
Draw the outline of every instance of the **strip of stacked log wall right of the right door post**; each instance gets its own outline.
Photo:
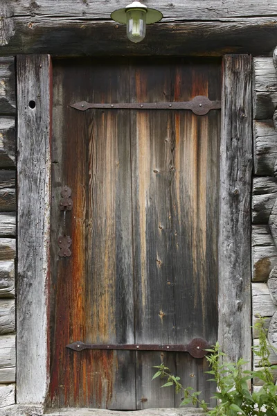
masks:
<instances>
[{"instance_id":1,"label":"strip of stacked log wall right of the right door post","mask_svg":"<svg viewBox=\"0 0 277 416\"><path fill-rule=\"evenodd\" d=\"M265 318L277 346L277 71L272 58L253 58L252 310ZM253 345L258 343L253 329ZM271 351L271 364L277 355ZM258 360L253 358L258 368ZM277 379L275 370L274 377ZM254 379L254 387L260 381Z\"/></svg>"}]
</instances>

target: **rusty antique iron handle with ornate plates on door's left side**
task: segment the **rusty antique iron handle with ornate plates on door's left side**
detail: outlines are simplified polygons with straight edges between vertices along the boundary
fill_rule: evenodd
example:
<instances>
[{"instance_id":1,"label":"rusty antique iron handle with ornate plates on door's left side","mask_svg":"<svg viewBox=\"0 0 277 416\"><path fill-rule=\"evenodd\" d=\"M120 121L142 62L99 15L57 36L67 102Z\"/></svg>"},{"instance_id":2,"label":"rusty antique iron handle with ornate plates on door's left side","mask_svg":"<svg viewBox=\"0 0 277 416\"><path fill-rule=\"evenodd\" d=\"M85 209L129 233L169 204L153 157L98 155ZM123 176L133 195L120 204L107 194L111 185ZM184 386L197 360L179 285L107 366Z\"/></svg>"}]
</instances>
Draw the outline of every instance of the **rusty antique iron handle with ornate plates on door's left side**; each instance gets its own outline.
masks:
<instances>
[{"instance_id":1,"label":"rusty antique iron handle with ornate plates on door's left side","mask_svg":"<svg viewBox=\"0 0 277 416\"><path fill-rule=\"evenodd\" d=\"M71 237L66 236L66 212L71 211L73 208L73 200L71 199L71 189L67 186L62 188L61 191L62 199L60 200L60 211L64 212L64 235L60 236L58 239L58 245L60 247L60 251L58 255L60 257L70 257L71 250L69 249L71 246Z\"/></svg>"}]
</instances>

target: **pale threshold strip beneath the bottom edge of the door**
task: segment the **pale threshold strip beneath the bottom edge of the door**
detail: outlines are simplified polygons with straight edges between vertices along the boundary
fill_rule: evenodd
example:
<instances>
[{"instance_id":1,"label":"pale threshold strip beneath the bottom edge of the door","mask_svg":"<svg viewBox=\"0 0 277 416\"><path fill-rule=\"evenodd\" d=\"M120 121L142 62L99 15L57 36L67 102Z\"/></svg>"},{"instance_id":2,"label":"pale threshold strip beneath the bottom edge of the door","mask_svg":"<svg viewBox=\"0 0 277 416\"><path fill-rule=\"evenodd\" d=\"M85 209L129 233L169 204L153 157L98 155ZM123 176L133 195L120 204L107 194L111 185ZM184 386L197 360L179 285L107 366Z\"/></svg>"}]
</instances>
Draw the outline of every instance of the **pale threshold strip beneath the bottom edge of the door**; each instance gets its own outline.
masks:
<instances>
[{"instance_id":1,"label":"pale threshold strip beneath the bottom edge of the door","mask_svg":"<svg viewBox=\"0 0 277 416\"><path fill-rule=\"evenodd\" d=\"M47 416L195 416L204 415L196 408L152 408L143 410L105 410L93 408L48 409Z\"/></svg>"}]
</instances>

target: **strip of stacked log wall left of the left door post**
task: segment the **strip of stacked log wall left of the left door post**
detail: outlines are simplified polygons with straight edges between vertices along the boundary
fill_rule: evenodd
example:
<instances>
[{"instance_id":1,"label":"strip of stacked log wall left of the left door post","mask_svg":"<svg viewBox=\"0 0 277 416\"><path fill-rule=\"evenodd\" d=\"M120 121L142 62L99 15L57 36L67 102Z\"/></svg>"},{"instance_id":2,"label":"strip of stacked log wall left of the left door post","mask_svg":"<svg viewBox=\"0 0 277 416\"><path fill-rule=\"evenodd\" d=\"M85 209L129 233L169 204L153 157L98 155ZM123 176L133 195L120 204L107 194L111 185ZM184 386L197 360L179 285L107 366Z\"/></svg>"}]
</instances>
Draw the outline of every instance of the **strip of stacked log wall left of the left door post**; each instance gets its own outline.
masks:
<instances>
[{"instance_id":1,"label":"strip of stacked log wall left of the left door post","mask_svg":"<svg viewBox=\"0 0 277 416\"><path fill-rule=\"evenodd\" d=\"M15 404L15 59L0 58L0 408Z\"/></svg>"}]
</instances>

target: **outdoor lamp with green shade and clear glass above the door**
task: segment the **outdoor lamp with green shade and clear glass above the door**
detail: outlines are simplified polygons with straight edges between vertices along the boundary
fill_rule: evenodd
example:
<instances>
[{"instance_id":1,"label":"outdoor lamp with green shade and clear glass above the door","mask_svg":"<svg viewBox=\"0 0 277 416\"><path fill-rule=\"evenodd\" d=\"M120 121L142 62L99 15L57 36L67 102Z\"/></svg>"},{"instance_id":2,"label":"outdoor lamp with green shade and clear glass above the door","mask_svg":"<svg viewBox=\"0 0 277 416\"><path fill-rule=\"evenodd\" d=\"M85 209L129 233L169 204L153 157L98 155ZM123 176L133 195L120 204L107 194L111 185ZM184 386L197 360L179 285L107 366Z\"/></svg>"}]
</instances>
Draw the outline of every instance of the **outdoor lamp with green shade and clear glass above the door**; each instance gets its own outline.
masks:
<instances>
[{"instance_id":1,"label":"outdoor lamp with green shade and clear glass above the door","mask_svg":"<svg viewBox=\"0 0 277 416\"><path fill-rule=\"evenodd\" d=\"M127 37L138 43L145 38L146 25L156 23L163 18L159 10L150 9L139 1L133 1L123 9L111 13L111 19L127 25Z\"/></svg>"}]
</instances>

